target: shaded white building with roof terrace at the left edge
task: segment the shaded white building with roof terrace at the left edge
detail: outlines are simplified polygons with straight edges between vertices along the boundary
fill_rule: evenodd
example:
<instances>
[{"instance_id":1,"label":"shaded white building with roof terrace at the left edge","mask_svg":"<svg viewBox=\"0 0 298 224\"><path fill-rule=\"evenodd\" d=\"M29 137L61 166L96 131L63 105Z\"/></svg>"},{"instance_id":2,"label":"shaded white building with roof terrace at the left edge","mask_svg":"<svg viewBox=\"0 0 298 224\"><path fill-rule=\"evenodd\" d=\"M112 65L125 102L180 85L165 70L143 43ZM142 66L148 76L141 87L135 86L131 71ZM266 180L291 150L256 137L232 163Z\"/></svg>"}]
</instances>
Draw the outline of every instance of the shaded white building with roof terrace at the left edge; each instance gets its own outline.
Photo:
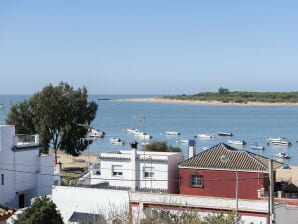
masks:
<instances>
[{"instance_id":1,"label":"shaded white building with roof terrace at the left edge","mask_svg":"<svg viewBox=\"0 0 298 224\"><path fill-rule=\"evenodd\" d=\"M38 135L16 135L0 125L0 204L22 208L30 199L51 193L54 158L39 154Z\"/></svg>"}]
</instances>

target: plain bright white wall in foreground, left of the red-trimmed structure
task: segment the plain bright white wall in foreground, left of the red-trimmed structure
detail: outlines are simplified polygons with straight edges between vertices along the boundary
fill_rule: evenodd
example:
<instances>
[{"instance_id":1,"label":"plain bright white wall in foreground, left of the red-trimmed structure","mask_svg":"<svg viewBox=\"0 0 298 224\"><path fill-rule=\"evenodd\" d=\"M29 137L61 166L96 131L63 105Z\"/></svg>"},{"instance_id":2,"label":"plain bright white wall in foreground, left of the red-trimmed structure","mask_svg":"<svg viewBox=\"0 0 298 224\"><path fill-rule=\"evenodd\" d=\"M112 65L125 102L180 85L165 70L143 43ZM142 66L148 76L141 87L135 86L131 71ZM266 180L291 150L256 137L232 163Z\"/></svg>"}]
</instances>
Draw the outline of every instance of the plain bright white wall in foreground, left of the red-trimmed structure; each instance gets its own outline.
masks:
<instances>
[{"instance_id":1,"label":"plain bright white wall in foreground, left of the red-trimmed structure","mask_svg":"<svg viewBox=\"0 0 298 224\"><path fill-rule=\"evenodd\" d=\"M127 191L53 186L52 200L67 223L74 211L103 214L106 218L128 212Z\"/></svg>"}]
</instances>

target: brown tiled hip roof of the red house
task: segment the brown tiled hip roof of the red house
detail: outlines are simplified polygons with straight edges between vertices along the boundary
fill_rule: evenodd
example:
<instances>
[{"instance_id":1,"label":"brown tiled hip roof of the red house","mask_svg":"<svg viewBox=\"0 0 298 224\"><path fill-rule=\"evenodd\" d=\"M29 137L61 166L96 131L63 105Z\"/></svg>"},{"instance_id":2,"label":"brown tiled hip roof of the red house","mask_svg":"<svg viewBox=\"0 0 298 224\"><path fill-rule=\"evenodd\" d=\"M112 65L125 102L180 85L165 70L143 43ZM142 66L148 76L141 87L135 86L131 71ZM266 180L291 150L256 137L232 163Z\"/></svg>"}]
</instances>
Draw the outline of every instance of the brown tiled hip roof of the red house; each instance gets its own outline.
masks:
<instances>
[{"instance_id":1,"label":"brown tiled hip roof of the red house","mask_svg":"<svg viewBox=\"0 0 298 224\"><path fill-rule=\"evenodd\" d=\"M228 161L223 162L222 156ZM180 162L179 167L202 169L225 169L246 171L268 171L269 158L255 153L238 150L224 143L219 143L187 160ZM273 160L273 169L282 166L282 163Z\"/></svg>"}]
</instances>

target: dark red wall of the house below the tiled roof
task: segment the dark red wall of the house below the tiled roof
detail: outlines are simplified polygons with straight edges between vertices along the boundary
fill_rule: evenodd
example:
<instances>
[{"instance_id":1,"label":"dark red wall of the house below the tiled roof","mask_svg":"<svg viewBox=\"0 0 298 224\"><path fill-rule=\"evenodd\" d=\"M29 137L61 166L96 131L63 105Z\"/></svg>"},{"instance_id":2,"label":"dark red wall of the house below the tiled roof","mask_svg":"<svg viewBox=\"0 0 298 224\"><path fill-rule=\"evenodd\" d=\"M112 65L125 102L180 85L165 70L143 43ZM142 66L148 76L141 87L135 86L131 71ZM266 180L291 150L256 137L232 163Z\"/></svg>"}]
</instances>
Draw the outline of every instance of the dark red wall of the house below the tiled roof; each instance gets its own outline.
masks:
<instances>
[{"instance_id":1,"label":"dark red wall of the house below the tiled roof","mask_svg":"<svg viewBox=\"0 0 298 224\"><path fill-rule=\"evenodd\" d=\"M203 176L203 188L190 187L190 175ZM235 171L179 168L180 194L213 197L236 197ZM238 198L258 199L257 190L268 189L268 174L238 171Z\"/></svg>"}]
</instances>

